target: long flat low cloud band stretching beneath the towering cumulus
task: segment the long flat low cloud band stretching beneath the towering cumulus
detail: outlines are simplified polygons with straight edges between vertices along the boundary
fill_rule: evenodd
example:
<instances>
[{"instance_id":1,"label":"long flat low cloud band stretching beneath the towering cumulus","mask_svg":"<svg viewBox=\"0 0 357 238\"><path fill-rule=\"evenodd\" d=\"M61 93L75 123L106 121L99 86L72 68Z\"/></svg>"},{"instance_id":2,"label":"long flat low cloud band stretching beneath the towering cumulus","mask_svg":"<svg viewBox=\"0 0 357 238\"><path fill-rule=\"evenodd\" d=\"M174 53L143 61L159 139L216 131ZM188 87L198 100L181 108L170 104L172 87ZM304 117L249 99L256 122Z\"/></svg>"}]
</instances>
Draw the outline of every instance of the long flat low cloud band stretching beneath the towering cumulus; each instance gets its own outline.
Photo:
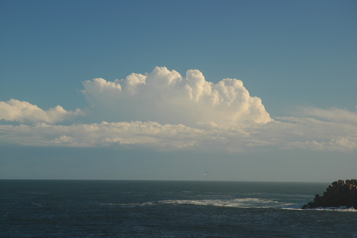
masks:
<instances>
[{"instance_id":1,"label":"long flat low cloud band stretching beneath the towering cumulus","mask_svg":"<svg viewBox=\"0 0 357 238\"><path fill-rule=\"evenodd\" d=\"M239 127L201 123L197 128L157 122L101 122L70 126L0 125L0 143L33 146L150 148L242 153L261 147L327 150L357 149L357 126L311 118L283 117Z\"/></svg>"}]
</instances>

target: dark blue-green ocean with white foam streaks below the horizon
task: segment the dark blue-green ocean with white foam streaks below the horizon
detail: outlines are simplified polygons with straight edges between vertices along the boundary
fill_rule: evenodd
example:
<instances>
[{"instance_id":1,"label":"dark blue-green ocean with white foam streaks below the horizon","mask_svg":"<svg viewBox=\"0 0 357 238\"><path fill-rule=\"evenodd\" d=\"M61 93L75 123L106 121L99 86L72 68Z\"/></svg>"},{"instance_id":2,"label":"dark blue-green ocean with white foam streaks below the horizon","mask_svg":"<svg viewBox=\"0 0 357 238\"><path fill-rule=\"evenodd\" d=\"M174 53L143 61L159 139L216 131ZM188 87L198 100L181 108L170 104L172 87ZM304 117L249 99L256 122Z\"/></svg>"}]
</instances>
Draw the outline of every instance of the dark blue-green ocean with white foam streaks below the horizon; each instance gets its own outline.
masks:
<instances>
[{"instance_id":1,"label":"dark blue-green ocean with white foam streaks below the horizon","mask_svg":"<svg viewBox=\"0 0 357 238\"><path fill-rule=\"evenodd\" d=\"M0 237L357 237L357 210L300 209L328 185L0 180Z\"/></svg>"}]
</instances>

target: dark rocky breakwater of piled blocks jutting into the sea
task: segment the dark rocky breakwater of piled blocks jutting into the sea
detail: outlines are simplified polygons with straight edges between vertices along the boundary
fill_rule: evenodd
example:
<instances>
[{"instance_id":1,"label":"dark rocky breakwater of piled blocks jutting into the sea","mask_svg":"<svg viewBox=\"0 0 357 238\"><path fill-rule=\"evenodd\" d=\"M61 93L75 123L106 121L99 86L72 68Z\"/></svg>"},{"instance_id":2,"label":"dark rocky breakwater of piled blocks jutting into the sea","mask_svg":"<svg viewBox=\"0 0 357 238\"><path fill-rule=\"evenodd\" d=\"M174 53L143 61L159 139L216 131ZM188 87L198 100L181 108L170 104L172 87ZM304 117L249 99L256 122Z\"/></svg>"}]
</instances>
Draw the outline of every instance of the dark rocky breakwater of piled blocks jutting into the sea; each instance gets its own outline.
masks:
<instances>
[{"instance_id":1,"label":"dark rocky breakwater of piled blocks jutting into the sea","mask_svg":"<svg viewBox=\"0 0 357 238\"><path fill-rule=\"evenodd\" d=\"M357 180L338 180L328 186L323 196L315 195L315 199L302 206L305 208L318 207L347 207L357 209Z\"/></svg>"}]
</instances>

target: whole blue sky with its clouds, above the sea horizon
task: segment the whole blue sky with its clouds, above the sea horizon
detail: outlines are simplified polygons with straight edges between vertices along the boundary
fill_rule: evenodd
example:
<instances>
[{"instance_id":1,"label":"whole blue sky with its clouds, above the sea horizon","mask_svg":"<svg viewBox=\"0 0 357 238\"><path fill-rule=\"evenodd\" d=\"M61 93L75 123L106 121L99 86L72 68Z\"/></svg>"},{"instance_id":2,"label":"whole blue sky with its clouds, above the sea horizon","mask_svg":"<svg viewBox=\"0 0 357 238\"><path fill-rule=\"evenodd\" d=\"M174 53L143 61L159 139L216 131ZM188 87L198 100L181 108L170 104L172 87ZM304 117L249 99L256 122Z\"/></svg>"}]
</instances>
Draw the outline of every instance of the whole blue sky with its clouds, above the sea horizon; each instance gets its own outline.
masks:
<instances>
[{"instance_id":1,"label":"whole blue sky with its clouds, above the sea horizon","mask_svg":"<svg viewBox=\"0 0 357 238\"><path fill-rule=\"evenodd\" d=\"M356 179L356 43L348 0L0 0L0 179Z\"/></svg>"}]
</instances>

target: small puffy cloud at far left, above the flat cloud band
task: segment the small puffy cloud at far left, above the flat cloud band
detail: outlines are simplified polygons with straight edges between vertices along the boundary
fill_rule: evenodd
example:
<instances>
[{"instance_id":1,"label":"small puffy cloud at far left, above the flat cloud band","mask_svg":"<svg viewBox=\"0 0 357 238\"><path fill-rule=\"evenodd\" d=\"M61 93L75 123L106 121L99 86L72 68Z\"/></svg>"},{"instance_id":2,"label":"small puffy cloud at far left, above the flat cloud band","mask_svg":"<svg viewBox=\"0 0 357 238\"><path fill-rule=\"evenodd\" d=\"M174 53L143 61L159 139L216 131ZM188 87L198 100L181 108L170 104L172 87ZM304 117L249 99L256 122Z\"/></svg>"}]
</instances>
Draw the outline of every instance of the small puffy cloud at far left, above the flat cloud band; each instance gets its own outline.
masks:
<instances>
[{"instance_id":1,"label":"small puffy cloud at far left, above the flat cloud band","mask_svg":"<svg viewBox=\"0 0 357 238\"><path fill-rule=\"evenodd\" d=\"M42 110L29 102L10 99L7 102L0 101L0 120L17 121L21 123L45 122L55 124L64 120L71 120L79 115L84 115L80 109L76 111L66 111L57 105L49 110Z\"/></svg>"}]
</instances>

